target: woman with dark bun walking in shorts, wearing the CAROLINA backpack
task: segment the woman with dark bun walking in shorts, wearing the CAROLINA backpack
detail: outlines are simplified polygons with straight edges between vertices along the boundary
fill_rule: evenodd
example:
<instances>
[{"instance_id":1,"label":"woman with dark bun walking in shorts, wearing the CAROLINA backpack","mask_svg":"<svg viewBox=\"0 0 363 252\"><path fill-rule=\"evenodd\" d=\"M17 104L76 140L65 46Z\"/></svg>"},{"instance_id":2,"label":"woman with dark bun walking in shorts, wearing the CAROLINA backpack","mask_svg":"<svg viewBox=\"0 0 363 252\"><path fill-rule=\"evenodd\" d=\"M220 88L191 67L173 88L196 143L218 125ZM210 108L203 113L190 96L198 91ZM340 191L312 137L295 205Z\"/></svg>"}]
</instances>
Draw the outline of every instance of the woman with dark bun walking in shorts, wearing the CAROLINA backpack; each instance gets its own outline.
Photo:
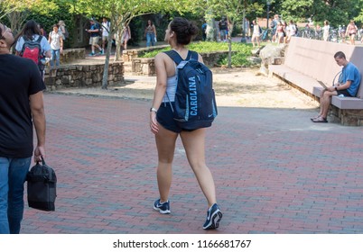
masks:
<instances>
[{"instance_id":1,"label":"woman with dark bun walking in shorts, wearing the CAROLINA backpack","mask_svg":"<svg viewBox=\"0 0 363 252\"><path fill-rule=\"evenodd\" d=\"M165 41L181 58L187 58L189 49L185 46L197 33L197 27L184 18L174 18L165 31ZM203 62L201 56L198 60ZM172 106L177 86L176 66L172 58L161 52L155 57L156 86L153 106L150 109L150 128L155 135L158 151L156 171L160 198L154 202L154 210L170 213L169 192L172 185L172 159L175 142L181 137L191 169L197 177L201 191L208 202L207 220L203 229L217 229L222 213L216 200L213 176L205 163L206 128L183 130L173 120Z\"/></svg>"}]
</instances>

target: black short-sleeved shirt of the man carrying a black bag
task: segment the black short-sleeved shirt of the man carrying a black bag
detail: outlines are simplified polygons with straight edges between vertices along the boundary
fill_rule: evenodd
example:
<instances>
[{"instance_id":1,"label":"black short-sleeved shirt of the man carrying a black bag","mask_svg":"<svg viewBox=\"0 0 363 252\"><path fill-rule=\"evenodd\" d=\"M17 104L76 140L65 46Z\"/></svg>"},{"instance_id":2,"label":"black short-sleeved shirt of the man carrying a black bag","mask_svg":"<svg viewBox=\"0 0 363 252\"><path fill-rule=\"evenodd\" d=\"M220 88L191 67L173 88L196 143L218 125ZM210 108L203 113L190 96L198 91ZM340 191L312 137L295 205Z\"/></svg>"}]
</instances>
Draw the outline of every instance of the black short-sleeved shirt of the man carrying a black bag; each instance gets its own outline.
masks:
<instances>
[{"instance_id":1,"label":"black short-sleeved shirt of the man carrying a black bag","mask_svg":"<svg viewBox=\"0 0 363 252\"><path fill-rule=\"evenodd\" d=\"M0 157L32 157L29 96L43 89L42 76L33 60L0 55Z\"/></svg>"}]
</instances>

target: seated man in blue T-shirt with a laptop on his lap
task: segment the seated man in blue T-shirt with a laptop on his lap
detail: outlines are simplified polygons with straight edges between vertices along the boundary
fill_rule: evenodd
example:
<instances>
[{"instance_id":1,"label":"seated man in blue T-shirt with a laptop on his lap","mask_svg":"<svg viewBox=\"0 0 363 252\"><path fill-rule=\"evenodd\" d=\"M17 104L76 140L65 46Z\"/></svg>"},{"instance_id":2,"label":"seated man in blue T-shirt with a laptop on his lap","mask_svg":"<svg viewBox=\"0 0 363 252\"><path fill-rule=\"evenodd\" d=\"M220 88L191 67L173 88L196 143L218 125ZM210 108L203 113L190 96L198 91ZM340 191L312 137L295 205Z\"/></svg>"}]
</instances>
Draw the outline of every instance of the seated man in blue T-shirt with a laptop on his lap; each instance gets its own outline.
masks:
<instances>
[{"instance_id":1,"label":"seated man in blue T-shirt with a laptop on his lap","mask_svg":"<svg viewBox=\"0 0 363 252\"><path fill-rule=\"evenodd\" d=\"M343 67L341 70L341 83L329 86L321 93L321 112L318 116L312 118L313 122L328 122L327 115L332 95L340 95L355 97L360 84L360 73L358 68L345 58L342 51L338 51L334 55L338 66Z\"/></svg>"}]
</instances>

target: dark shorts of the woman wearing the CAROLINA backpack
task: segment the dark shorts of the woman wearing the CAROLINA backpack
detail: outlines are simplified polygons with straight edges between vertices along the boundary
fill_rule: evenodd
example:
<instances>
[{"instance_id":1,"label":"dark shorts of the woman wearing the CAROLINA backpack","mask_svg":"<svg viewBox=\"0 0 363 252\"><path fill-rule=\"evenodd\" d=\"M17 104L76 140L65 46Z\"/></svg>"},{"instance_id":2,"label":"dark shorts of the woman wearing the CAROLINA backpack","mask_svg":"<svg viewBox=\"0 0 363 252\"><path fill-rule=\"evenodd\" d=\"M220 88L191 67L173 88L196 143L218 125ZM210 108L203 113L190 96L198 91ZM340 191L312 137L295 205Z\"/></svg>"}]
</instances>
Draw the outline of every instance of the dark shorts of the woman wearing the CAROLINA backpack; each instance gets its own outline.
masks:
<instances>
[{"instance_id":1,"label":"dark shorts of the woman wearing the CAROLINA backpack","mask_svg":"<svg viewBox=\"0 0 363 252\"><path fill-rule=\"evenodd\" d=\"M171 107L172 106L172 107ZM180 133L181 131L192 131L192 130L183 130L179 127L174 120L174 113L172 112L172 108L175 108L174 103L162 103L157 110L156 120L159 122L163 128L166 130L171 130L175 133Z\"/></svg>"}]
</instances>

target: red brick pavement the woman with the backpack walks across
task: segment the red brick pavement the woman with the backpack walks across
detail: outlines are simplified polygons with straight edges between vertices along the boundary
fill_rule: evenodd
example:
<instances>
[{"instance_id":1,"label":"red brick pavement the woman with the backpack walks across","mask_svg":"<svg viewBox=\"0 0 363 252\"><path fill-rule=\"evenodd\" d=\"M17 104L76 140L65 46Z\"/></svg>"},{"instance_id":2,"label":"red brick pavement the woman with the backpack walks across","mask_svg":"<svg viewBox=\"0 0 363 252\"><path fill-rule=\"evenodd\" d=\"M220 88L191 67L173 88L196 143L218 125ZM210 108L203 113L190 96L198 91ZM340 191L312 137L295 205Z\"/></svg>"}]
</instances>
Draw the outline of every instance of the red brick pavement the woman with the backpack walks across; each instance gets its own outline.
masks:
<instances>
[{"instance_id":1,"label":"red brick pavement the woman with the backpack walks across","mask_svg":"<svg viewBox=\"0 0 363 252\"><path fill-rule=\"evenodd\" d=\"M314 124L315 110L220 107L207 160L224 217L206 201L178 142L172 214L158 196L150 102L45 94L56 211L26 207L22 233L363 233L361 128Z\"/></svg>"}]
</instances>

